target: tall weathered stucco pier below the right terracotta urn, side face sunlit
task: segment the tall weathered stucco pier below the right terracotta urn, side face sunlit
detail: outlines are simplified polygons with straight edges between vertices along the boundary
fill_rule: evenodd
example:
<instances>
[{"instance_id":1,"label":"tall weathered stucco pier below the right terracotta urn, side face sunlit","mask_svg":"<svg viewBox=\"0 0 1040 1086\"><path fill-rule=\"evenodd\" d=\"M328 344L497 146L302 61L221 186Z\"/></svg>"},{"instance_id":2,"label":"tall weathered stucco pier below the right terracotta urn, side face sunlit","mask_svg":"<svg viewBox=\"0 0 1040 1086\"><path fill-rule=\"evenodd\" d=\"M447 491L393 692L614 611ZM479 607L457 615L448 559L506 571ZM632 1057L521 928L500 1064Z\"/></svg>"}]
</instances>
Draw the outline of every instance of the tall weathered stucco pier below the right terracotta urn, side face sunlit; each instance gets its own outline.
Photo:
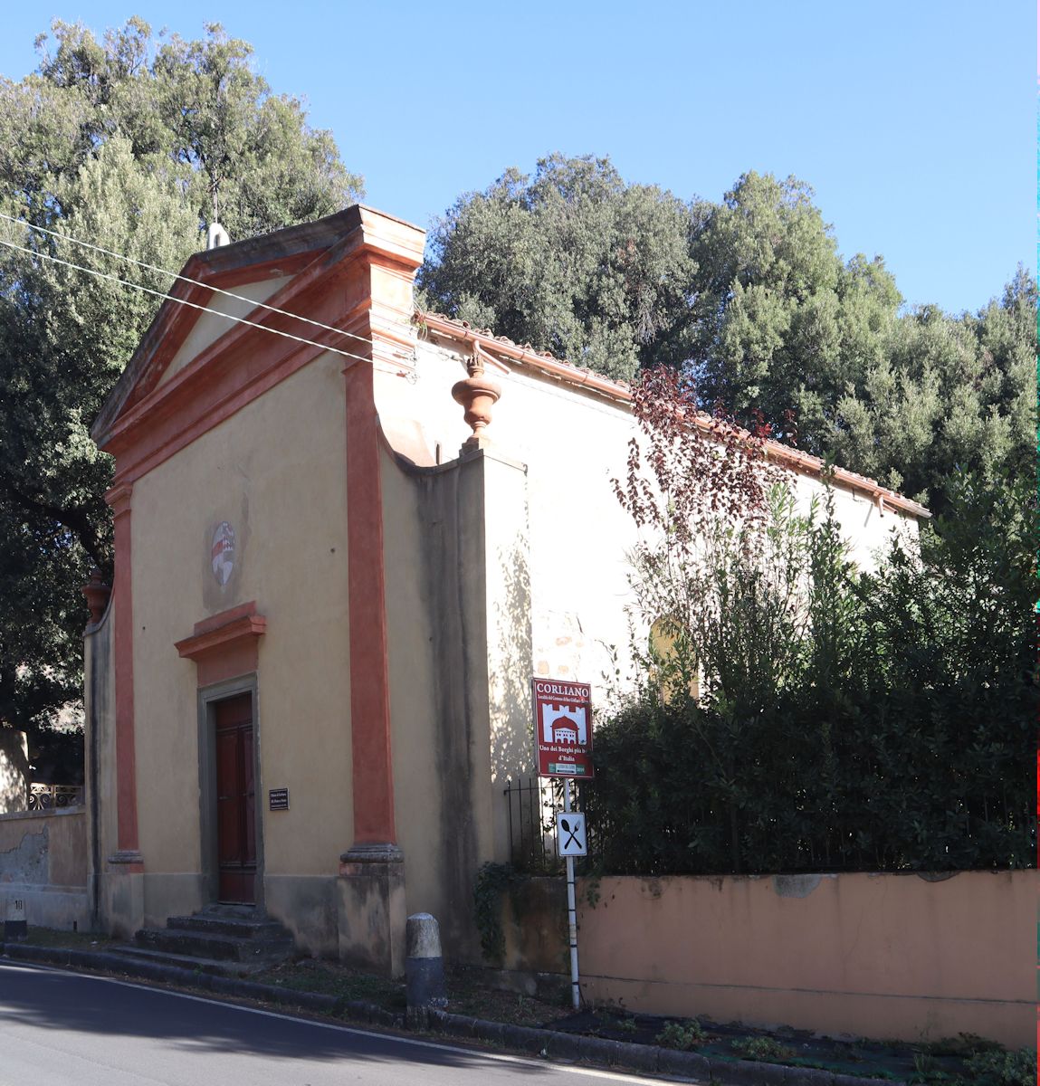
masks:
<instances>
[{"instance_id":1,"label":"tall weathered stucco pier below the right terracotta urn, side face sunlit","mask_svg":"<svg viewBox=\"0 0 1040 1086\"><path fill-rule=\"evenodd\" d=\"M417 473L431 617L442 944L479 960L473 880L509 855L506 778L530 772L525 477L484 454Z\"/></svg>"}]
</instances>

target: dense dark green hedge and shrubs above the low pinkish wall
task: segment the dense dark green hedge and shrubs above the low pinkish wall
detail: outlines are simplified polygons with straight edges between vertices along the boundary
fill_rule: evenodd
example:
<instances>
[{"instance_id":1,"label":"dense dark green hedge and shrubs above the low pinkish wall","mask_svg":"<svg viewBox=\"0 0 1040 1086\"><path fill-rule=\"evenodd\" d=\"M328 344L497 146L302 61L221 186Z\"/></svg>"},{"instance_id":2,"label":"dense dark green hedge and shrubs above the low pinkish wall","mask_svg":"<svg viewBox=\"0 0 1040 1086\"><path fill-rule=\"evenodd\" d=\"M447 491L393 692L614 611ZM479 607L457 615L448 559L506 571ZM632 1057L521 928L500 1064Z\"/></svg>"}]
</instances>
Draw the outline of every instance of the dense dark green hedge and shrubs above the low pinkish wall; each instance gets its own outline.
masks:
<instances>
[{"instance_id":1,"label":"dense dark green hedge and shrubs above the low pinkish wall","mask_svg":"<svg viewBox=\"0 0 1040 1086\"><path fill-rule=\"evenodd\" d=\"M919 557L896 542L861 573L826 510L774 491L696 567L637 558L674 641L597 730L604 869L1031 866L1033 508L959 477Z\"/></svg>"}]
</instances>

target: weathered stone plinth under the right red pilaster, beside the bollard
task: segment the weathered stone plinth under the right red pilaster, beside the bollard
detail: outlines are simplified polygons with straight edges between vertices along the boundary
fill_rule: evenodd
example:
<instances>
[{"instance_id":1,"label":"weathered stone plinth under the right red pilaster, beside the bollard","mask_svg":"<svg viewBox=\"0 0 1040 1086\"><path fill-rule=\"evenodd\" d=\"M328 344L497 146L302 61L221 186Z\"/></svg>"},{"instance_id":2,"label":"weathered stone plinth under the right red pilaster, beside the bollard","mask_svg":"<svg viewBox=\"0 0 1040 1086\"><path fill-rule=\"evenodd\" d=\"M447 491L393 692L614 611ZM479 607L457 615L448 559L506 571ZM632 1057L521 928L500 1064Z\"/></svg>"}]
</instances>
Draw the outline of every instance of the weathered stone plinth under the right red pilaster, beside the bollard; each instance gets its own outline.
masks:
<instances>
[{"instance_id":1,"label":"weathered stone plinth under the right red pilaster, beside the bollard","mask_svg":"<svg viewBox=\"0 0 1040 1086\"><path fill-rule=\"evenodd\" d=\"M340 961L398 977L405 971L405 862L396 845L355 845L340 857Z\"/></svg>"}]
</instances>

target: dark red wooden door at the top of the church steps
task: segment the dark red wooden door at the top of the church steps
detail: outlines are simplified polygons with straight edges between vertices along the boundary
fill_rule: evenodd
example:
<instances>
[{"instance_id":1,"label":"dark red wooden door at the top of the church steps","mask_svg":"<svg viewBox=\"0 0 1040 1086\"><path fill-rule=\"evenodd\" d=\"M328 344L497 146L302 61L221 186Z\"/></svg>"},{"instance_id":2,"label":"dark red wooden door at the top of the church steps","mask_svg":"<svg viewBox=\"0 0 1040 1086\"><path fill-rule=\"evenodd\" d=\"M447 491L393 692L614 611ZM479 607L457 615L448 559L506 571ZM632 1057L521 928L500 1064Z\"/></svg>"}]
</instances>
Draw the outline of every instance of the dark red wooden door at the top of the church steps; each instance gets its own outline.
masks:
<instances>
[{"instance_id":1,"label":"dark red wooden door at the top of the church steps","mask_svg":"<svg viewBox=\"0 0 1040 1086\"><path fill-rule=\"evenodd\" d=\"M253 696L239 694L214 707L217 762L218 898L256 901L256 786Z\"/></svg>"}]
</instances>

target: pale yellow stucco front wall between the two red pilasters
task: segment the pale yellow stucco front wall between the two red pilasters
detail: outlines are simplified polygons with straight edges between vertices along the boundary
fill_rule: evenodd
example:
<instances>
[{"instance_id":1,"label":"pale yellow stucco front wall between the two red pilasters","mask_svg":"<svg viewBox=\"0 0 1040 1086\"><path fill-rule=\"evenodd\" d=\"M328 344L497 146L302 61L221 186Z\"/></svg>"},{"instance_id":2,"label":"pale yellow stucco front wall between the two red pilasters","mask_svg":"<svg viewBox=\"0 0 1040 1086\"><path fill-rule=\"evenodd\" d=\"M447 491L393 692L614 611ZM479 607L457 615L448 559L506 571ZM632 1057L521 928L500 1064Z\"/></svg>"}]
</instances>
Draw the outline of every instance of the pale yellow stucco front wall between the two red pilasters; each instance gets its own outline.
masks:
<instances>
[{"instance_id":1,"label":"pale yellow stucco front wall between the two red pilasters","mask_svg":"<svg viewBox=\"0 0 1040 1086\"><path fill-rule=\"evenodd\" d=\"M200 871L195 666L175 643L195 622L255 601L258 784L289 787L292 806L263 824L266 876L337 871L351 841L346 671L346 462L341 366L310 363L135 485L134 666L145 921L205 901ZM278 435L278 437L276 437ZM233 527L234 566L213 574L217 526ZM147 783L145 783L147 782ZM147 793L144 793L147 787Z\"/></svg>"}]
</instances>

